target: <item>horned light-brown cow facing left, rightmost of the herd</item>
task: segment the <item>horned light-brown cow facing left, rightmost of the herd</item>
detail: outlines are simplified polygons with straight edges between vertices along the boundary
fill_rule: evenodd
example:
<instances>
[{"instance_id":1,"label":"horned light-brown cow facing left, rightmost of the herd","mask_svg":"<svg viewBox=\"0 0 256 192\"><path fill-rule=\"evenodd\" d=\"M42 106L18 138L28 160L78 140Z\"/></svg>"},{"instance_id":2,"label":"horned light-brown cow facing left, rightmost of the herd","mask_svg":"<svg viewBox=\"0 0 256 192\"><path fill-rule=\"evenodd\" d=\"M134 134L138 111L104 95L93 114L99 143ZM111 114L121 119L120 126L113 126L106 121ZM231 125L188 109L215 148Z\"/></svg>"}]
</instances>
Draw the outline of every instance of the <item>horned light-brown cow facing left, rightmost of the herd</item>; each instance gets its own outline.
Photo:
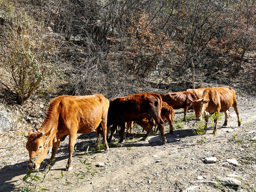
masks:
<instances>
[{"instance_id":1,"label":"horned light-brown cow facing left, rightmost of the herd","mask_svg":"<svg viewBox=\"0 0 256 192\"><path fill-rule=\"evenodd\" d=\"M228 123L229 109L233 106L238 120L238 126L241 126L239 121L239 113L236 101L235 91L228 86L225 87L215 87L215 88L205 88L203 92L202 99L190 100L195 110L196 118L199 119L205 110L208 114L214 114L215 112L225 113L225 122L222 126L226 126ZM204 116L206 124L204 130L207 130L207 122L209 117ZM214 119L214 131L217 131L217 118Z\"/></svg>"}]
</instances>

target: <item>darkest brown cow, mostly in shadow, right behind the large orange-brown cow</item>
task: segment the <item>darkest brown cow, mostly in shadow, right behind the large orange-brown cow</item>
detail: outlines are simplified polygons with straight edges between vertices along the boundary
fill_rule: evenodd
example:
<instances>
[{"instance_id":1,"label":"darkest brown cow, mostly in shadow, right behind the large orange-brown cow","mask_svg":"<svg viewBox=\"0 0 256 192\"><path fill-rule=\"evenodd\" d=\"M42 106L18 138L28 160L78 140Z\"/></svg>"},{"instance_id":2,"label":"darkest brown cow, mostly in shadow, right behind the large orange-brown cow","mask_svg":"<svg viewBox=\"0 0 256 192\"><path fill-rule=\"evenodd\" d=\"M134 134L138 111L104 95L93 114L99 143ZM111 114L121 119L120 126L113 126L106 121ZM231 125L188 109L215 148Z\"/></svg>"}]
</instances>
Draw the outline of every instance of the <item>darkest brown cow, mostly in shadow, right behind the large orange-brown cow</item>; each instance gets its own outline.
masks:
<instances>
[{"instance_id":1,"label":"darkest brown cow, mostly in shadow, right behind the large orange-brown cow","mask_svg":"<svg viewBox=\"0 0 256 192\"><path fill-rule=\"evenodd\" d=\"M166 139L164 137L164 122L161 118L161 107L162 98L157 93L137 93L111 99L109 102L107 127L109 129L111 125L113 126L108 141L111 141L118 125L121 127L121 139L119 140L119 143L121 143L124 140L125 122L138 121L150 116L158 125L165 144ZM151 129L147 131L142 140L145 140L150 132Z\"/></svg>"}]
</instances>

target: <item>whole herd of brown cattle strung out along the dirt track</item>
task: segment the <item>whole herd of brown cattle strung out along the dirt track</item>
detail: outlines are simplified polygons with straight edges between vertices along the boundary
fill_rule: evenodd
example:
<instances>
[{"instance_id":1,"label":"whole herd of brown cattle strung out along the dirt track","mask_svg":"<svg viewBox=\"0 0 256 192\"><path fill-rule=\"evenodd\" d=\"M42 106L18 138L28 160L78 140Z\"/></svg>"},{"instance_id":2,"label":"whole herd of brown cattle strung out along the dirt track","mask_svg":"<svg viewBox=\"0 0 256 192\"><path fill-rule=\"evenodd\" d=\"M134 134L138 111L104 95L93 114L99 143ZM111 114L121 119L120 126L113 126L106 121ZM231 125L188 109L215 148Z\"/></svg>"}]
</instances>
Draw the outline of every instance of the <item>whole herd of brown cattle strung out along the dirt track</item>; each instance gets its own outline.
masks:
<instances>
[{"instance_id":1,"label":"whole herd of brown cattle strung out along the dirt track","mask_svg":"<svg viewBox=\"0 0 256 192\"><path fill-rule=\"evenodd\" d=\"M229 109L233 106L238 126L241 126L237 108L236 94L230 87L214 87L187 90L182 92L165 93L137 93L126 97L117 97L110 101L101 94L86 96L62 95L50 102L44 122L39 131L30 130L26 148L29 151L29 170L38 170L44 160L49 147L52 146L52 155L49 165L58 151L60 142L69 135L68 163L66 170L72 167L72 154L75 146L77 133L90 133L93 130L103 132L106 150L117 126L121 128L121 143L124 139L125 123L127 123L126 136L132 134L132 125L137 123L147 131L142 139L146 139L154 126L161 133L163 143L164 121L170 125L170 134L173 133L174 109L184 108L184 119L189 108L193 107L196 119L204 113L206 121L204 129L207 130L209 114L215 112L225 113L227 125ZM214 132L217 131L217 119L214 119ZM108 131L111 133L108 137ZM97 139L96 146L98 146ZM51 167L51 166L50 166Z\"/></svg>"}]
</instances>

